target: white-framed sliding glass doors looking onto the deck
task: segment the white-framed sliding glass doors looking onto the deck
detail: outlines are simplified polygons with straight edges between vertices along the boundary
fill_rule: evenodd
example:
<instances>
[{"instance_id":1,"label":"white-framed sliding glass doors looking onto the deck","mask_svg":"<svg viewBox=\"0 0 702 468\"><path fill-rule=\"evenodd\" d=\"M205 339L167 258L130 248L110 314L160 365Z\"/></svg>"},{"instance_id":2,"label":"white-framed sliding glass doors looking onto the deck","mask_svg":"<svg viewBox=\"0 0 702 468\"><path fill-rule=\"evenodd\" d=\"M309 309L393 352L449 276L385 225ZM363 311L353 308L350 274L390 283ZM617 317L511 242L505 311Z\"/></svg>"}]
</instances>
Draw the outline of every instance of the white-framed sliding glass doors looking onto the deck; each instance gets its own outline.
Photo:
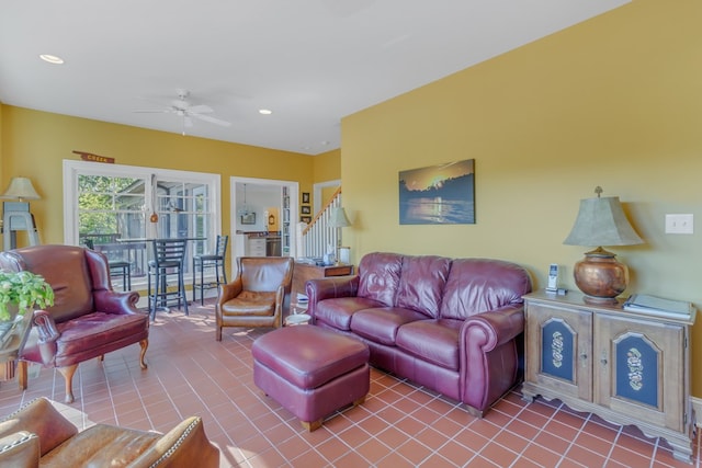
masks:
<instances>
[{"instance_id":1,"label":"white-framed sliding glass doors looking onto the deck","mask_svg":"<svg viewBox=\"0 0 702 468\"><path fill-rule=\"evenodd\" d=\"M145 282L149 239L188 238L192 255L220 232L219 174L64 161L64 240L127 261Z\"/></svg>"}]
</instances>

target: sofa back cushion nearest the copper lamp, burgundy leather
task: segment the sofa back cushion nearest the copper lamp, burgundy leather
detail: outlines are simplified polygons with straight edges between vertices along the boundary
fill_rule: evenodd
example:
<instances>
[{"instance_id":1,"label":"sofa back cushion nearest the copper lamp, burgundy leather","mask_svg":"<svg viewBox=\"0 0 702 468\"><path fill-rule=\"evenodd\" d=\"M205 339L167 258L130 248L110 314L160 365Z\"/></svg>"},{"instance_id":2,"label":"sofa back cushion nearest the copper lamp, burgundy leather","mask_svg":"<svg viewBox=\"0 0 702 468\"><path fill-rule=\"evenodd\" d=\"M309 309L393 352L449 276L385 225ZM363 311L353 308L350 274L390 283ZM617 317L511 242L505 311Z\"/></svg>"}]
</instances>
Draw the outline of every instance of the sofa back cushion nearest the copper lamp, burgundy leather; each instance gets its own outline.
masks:
<instances>
[{"instance_id":1,"label":"sofa back cushion nearest the copper lamp, burgundy leather","mask_svg":"<svg viewBox=\"0 0 702 468\"><path fill-rule=\"evenodd\" d=\"M441 301L442 319L465 320L486 310L522 304L531 292L524 269L501 260L456 259Z\"/></svg>"}]
</instances>

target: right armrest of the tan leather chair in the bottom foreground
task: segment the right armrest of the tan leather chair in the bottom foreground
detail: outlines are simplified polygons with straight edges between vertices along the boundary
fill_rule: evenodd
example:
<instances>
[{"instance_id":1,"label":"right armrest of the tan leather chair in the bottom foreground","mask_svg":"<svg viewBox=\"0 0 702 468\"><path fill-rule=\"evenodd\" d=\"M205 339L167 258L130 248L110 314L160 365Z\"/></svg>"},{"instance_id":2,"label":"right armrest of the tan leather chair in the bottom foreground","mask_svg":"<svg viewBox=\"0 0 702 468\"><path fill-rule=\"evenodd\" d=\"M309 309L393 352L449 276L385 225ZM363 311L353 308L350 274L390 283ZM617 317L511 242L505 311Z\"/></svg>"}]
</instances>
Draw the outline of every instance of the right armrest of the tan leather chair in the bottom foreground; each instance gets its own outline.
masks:
<instances>
[{"instance_id":1,"label":"right armrest of the tan leather chair in the bottom foreground","mask_svg":"<svg viewBox=\"0 0 702 468\"><path fill-rule=\"evenodd\" d=\"M166 433L129 466L218 468L219 449L207 440L202 418L191 416Z\"/></svg>"}]
</instances>

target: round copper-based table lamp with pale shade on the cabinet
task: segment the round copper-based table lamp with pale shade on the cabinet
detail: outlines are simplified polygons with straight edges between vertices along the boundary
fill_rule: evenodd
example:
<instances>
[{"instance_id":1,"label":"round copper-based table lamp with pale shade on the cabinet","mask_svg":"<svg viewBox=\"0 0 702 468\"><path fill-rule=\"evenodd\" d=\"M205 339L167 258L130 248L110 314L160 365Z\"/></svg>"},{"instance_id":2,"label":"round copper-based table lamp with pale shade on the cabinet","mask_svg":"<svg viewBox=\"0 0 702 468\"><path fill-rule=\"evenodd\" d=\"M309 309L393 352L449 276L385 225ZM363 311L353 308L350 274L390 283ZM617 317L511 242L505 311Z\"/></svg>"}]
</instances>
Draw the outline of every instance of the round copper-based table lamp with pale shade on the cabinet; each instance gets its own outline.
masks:
<instances>
[{"instance_id":1,"label":"round copper-based table lamp with pale shade on the cabinet","mask_svg":"<svg viewBox=\"0 0 702 468\"><path fill-rule=\"evenodd\" d=\"M580 201L578 217L563 243L600 246L586 252L585 259L575 264L575 284L589 303L615 304L616 296L629 285L629 269L601 246L633 246L644 241L626 219L618 196L601 197L600 186L595 193L597 198Z\"/></svg>"}]
</instances>

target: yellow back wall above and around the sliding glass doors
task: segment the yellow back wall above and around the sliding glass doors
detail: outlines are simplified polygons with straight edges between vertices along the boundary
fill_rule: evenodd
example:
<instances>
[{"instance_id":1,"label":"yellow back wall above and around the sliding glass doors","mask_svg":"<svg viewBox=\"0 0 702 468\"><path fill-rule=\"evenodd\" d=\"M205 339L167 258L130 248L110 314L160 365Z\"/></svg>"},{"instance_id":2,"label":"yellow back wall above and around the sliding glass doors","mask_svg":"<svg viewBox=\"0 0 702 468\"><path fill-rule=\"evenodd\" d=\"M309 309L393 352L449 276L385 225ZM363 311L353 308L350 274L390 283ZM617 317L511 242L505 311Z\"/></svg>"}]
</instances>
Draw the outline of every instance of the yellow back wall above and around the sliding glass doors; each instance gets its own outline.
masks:
<instances>
[{"instance_id":1,"label":"yellow back wall above and around the sliding glass doors","mask_svg":"<svg viewBox=\"0 0 702 468\"><path fill-rule=\"evenodd\" d=\"M42 199L32 202L32 213L43 243L64 241L61 161L80 160L73 150L115 158L118 164L222 174L223 233L230 233L229 176L298 181L301 187L314 183L314 157L306 155L9 105L0 109L0 184L5 187L14 175L32 179L42 195Z\"/></svg>"}]
</instances>

